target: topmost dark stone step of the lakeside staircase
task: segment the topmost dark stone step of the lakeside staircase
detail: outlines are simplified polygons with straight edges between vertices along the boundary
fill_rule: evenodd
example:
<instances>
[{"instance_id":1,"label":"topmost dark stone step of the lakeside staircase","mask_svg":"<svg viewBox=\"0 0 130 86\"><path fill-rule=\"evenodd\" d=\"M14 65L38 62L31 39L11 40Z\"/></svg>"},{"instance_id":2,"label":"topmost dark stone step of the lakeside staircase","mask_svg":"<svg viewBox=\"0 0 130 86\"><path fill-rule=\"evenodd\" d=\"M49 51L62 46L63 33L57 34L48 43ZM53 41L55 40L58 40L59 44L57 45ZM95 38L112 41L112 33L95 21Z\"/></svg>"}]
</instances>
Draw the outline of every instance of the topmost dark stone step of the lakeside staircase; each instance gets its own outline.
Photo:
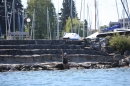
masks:
<instances>
[{"instance_id":1,"label":"topmost dark stone step of the lakeside staircase","mask_svg":"<svg viewBox=\"0 0 130 86\"><path fill-rule=\"evenodd\" d=\"M0 40L0 45L24 44L75 44L81 45L84 40Z\"/></svg>"}]
</instances>

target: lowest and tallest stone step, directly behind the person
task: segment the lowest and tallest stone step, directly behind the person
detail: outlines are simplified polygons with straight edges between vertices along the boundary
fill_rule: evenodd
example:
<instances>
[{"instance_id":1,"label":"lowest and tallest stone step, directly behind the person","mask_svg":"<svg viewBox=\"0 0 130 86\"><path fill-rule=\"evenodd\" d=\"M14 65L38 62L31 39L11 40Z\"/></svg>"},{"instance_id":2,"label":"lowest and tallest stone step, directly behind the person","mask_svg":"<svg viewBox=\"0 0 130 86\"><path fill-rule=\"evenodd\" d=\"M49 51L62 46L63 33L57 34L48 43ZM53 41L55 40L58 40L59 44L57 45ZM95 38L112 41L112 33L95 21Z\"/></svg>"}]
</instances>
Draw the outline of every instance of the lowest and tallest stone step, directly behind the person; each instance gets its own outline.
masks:
<instances>
[{"instance_id":1,"label":"lowest and tallest stone step, directly behind the person","mask_svg":"<svg viewBox=\"0 0 130 86\"><path fill-rule=\"evenodd\" d=\"M112 56L88 55L88 54L69 54L70 62L108 62L113 60ZM42 54L42 55L0 55L0 62L62 62L61 54Z\"/></svg>"}]
</instances>

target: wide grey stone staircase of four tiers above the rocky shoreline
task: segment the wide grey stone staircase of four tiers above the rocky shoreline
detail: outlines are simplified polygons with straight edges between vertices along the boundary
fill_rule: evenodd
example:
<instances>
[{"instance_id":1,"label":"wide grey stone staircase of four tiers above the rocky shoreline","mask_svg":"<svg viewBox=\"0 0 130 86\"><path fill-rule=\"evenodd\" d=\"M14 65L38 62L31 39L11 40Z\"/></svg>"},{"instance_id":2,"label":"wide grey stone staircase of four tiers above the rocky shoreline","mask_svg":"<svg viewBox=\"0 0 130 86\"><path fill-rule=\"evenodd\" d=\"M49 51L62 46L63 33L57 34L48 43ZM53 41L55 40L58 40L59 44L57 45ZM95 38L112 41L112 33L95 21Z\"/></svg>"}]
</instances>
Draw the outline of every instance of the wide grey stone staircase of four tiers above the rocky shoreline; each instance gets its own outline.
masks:
<instances>
[{"instance_id":1,"label":"wide grey stone staircase of four tiers above the rocky shoreline","mask_svg":"<svg viewBox=\"0 0 130 86\"><path fill-rule=\"evenodd\" d=\"M70 62L107 62L112 57L101 51L85 49L84 40L0 40L0 62L61 62L61 49Z\"/></svg>"}]
</instances>

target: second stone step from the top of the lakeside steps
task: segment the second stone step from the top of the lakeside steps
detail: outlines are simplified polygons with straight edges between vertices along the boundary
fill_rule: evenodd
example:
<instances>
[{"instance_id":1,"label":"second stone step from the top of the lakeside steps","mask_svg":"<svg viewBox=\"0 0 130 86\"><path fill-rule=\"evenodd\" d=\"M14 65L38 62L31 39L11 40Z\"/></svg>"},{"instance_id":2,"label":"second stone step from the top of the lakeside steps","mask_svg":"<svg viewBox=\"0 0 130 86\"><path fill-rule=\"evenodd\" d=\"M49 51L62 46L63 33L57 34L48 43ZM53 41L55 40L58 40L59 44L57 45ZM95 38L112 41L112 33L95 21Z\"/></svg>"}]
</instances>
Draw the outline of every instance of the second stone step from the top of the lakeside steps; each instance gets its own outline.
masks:
<instances>
[{"instance_id":1,"label":"second stone step from the top of the lakeside steps","mask_svg":"<svg viewBox=\"0 0 130 86\"><path fill-rule=\"evenodd\" d=\"M67 44L26 44L26 45L0 45L0 49L82 49L83 45L67 45Z\"/></svg>"}]
</instances>

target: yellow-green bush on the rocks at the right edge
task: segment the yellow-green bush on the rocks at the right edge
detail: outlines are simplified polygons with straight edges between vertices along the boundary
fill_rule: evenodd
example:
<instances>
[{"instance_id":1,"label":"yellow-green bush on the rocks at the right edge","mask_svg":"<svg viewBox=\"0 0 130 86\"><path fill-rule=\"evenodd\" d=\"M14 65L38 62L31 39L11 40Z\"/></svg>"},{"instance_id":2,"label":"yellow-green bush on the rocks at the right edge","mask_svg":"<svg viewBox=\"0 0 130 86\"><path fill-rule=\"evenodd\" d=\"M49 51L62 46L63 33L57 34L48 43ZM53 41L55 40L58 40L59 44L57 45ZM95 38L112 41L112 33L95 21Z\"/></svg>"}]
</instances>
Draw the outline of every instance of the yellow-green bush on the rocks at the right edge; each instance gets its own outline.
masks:
<instances>
[{"instance_id":1,"label":"yellow-green bush on the rocks at the right edge","mask_svg":"<svg viewBox=\"0 0 130 86\"><path fill-rule=\"evenodd\" d=\"M116 51L119 51L121 54L123 54L125 50L130 50L130 37L115 34L109 40L109 45L112 46Z\"/></svg>"}]
</instances>

